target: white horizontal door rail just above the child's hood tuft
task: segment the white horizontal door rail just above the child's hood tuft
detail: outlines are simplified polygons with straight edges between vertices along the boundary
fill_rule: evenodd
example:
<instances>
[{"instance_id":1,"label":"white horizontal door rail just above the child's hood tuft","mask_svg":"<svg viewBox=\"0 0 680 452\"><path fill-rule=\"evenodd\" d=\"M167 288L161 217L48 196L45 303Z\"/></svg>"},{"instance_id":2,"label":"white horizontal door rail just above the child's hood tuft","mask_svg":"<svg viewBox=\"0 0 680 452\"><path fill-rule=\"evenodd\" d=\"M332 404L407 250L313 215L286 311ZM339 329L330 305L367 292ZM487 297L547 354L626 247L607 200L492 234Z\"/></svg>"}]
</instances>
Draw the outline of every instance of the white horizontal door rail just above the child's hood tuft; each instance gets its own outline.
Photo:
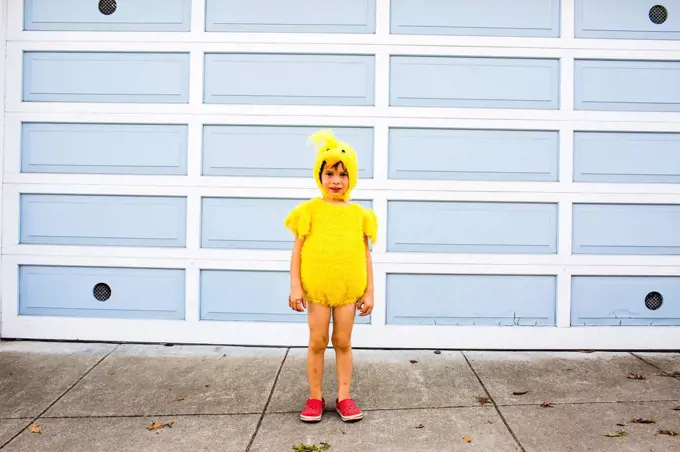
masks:
<instances>
[{"instance_id":1,"label":"white horizontal door rail just above the child's hood tuft","mask_svg":"<svg viewBox=\"0 0 680 452\"><path fill-rule=\"evenodd\" d=\"M8 55L12 64L21 64L20 58ZM8 64L9 66L9 64ZM14 72L8 73L8 87L17 90L21 78ZM242 123L260 124L266 118L279 118L273 124L300 124L303 119L316 118L312 124L337 123L336 118L345 118L343 124L369 125L370 120L389 118L392 125L423 127L452 127L457 124L473 125L475 128L494 127L488 121L532 130L555 130L565 122L575 123L577 129L624 130L626 124L635 124L633 130L677 131L680 114L677 112L616 112L616 111L560 111L528 109L484 109L484 108L423 108L423 107L334 107L313 105L229 105L229 104L124 104L124 103L57 103L21 102L21 91L8 92L7 112L24 115L50 115L50 118L122 117L121 115L145 115L143 122L158 121L173 123L186 122L188 117L206 119L207 124ZM134 113L132 113L134 112ZM9 116L9 115L8 115ZM182 119L180 120L179 117ZM154 119L151 119L154 118ZM174 119L173 119L174 118ZM252 118L252 119L246 119ZM654 123L654 124L645 124ZM583 126L580 126L583 124ZM457 126L459 127L459 126Z\"/></svg>"}]
</instances>

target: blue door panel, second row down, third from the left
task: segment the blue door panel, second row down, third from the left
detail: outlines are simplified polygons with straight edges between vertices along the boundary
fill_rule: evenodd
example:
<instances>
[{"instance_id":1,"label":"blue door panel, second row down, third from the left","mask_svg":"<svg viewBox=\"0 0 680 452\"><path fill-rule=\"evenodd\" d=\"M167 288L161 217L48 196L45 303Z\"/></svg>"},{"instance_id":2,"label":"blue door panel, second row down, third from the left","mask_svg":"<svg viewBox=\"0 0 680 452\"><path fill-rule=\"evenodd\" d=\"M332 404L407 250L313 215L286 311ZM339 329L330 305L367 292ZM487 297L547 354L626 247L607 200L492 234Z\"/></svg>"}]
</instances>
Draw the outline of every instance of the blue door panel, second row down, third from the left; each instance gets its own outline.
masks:
<instances>
[{"instance_id":1,"label":"blue door panel, second row down, third from the left","mask_svg":"<svg viewBox=\"0 0 680 452\"><path fill-rule=\"evenodd\" d=\"M555 110L559 61L393 56L390 105Z\"/></svg>"}]
</instances>

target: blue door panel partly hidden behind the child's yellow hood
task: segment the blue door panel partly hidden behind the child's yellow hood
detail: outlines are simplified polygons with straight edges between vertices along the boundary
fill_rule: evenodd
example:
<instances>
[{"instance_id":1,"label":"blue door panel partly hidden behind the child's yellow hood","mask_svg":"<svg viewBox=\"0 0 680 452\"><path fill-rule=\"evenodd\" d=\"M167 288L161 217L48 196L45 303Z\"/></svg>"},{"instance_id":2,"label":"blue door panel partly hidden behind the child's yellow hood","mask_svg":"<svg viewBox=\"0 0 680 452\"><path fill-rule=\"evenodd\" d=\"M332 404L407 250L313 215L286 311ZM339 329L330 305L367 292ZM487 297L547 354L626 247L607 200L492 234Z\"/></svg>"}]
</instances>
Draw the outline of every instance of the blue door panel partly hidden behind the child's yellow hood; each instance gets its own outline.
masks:
<instances>
[{"instance_id":1,"label":"blue door panel partly hidden behind the child's yellow hood","mask_svg":"<svg viewBox=\"0 0 680 452\"><path fill-rule=\"evenodd\" d=\"M312 177L314 151L309 135L325 128L207 125L203 129L203 175ZM333 127L359 159L359 179L373 177L373 128Z\"/></svg>"}]
</instances>

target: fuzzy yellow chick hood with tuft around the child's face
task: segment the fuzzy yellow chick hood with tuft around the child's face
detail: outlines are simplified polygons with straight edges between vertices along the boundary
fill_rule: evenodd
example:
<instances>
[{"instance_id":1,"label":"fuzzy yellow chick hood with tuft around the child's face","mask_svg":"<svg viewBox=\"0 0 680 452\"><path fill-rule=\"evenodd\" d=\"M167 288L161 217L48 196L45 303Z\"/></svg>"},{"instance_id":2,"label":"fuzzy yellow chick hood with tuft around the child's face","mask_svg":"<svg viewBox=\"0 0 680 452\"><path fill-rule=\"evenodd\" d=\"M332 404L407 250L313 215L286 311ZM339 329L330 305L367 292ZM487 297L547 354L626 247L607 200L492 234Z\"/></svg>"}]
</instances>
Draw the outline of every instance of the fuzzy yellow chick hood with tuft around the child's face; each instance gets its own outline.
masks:
<instances>
[{"instance_id":1,"label":"fuzzy yellow chick hood with tuft around the child's face","mask_svg":"<svg viewBox=\"0 0 680 452\"><path fill-rule=\"evenodd\" d=\"M359 164L357 162L357 155L354 148L344 141L340 141L335 137L332 130L319 130L313 133L310 140L314 142L317 148L316 162L314 163L314 180L316 185L321 190L324 196L329 198L341 198L347 201L350 193L357 184L359 178ZM331 193L326 193L321 185L321 166L326 163L326 167L332 167L338 162L342 162L349 175L349 184L347 191L343 196L336 196Z\"/></svg>"}]
</instances>

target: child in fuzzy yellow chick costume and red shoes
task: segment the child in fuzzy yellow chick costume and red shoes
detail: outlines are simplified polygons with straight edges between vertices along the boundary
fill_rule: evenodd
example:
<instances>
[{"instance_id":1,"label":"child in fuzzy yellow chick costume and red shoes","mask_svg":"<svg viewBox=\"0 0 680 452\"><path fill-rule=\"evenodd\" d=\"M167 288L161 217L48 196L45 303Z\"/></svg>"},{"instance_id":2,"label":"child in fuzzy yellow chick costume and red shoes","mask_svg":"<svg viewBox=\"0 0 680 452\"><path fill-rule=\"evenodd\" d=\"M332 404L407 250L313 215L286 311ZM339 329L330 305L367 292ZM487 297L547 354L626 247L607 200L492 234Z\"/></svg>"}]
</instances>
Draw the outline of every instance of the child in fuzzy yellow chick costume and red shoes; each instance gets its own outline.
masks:
<instances>
[{"instance_id":1,"label":"child in fuzzy yellow chick costume and red shoes","mask_svg":"<svg viewBox=\"0 0 680 452\"><path fill-rule=\"evenodd\" d=\"M299 312L309 308L309 399L300 419L318 422L323 415L321 383L332 315L338 376L335 410L343 421L357 421L363 413L350 397L351 335L356 310L361 316L373 310L368 240L375 244L378 225L371 209L348 202L359 175L354 149L330 130L318 131L311 139L317 146L314 178L322 196L296 206L284 222L295 236L288 304Z\"/></svg>"}]
</instances>

